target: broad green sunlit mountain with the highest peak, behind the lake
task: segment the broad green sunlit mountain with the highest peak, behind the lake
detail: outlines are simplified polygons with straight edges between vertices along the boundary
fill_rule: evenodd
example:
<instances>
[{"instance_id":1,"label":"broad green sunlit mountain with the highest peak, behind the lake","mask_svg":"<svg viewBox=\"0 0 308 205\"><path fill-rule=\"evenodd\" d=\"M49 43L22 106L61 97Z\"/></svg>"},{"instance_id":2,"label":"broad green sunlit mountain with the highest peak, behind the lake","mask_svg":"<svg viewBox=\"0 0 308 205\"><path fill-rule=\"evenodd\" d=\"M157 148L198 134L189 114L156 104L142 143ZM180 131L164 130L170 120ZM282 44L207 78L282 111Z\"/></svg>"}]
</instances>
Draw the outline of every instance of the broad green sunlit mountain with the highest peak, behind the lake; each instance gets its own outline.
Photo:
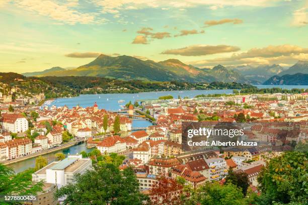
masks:
<instances>
[{"instance_id":1,"label":"broad green sunlit mountain with the highest peak, behind the lake","mask_svg":"<svg viewBox=\"0 0 308 205\"><path fill-rule=\"evenodd\" d=\"M111 57L101 54L94 61L75 69L54 71L43 76L100 76L120 80L187 81L187 82L249 82L237 71L223 66L200 69L177 59L161 62L140 60L131 56Z\"/></svg>"}]
</instances>

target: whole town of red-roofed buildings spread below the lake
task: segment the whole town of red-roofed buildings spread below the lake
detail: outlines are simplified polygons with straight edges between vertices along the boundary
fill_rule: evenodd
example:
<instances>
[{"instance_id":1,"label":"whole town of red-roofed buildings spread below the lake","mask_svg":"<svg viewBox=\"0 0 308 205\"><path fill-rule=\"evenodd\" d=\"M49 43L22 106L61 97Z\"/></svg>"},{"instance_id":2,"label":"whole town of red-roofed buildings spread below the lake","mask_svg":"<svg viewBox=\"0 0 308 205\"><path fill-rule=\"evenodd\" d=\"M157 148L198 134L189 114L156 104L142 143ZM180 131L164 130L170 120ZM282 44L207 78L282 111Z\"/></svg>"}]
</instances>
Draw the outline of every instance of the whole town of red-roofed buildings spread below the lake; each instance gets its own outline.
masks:
<instances>
[{"instance_id":1,"label":"whole town of red-roofed buildings spread below the lake","mask_svg":"<svg viewBox=\"0 0 308 205\"><path fill-rule=\"evenodd\" d=\"M139 191L145 195L160 183L162 176L181 177L184 184L197 189L207 182L224 184L229 170L245 173L250 190L260 194L257 178L266 163L298 144L307 143L306 92L193 98L163 96L134 104L129 102L120 111L99 109L95 101L87 108L49 106L48 101L39 105L45 100L44 93L24 96L12 88L6 93L0 93L1 163L38 157L46 151L54 152L78 143L91 148L91 153L97 152L96 155L70 154L39 166L32 174L32 181L44 182L45 191L38 193L44 196L40 197L42 204L46 204L47 199L52 201L50 204L56 204L53 195L56 190L72 183L75 173L91 170L100 161L97 155L114 153L124 156L116 162L117 167L122 171L132 168ZM138 119L146 119L152 125L136 130L132 121ZM250 147L210 146L185 151L182 124L186 122L210 122L212 126L220 122L253 124L250 131L244 132L244 137L261 143ZM287 125L291 125L292 132L288 132ZM59 170L61 174L54 177ZM33 201L33 204L39 202Z\"/></svg>"}]
</instances>

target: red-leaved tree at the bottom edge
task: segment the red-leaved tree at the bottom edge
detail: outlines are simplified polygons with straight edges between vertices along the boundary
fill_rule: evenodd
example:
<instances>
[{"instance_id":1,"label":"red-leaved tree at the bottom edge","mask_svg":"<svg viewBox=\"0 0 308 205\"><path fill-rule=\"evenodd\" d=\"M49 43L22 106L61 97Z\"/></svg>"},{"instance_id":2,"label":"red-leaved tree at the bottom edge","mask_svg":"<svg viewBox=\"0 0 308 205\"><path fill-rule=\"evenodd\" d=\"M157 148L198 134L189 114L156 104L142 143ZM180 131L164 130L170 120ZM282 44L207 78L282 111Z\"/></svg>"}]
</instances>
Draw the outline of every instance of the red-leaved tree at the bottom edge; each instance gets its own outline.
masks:
<instances>
[{"instance_id":1,"label":"red-leaved tree at the bottom edge","mask_svg":"<svg viewBox=\"0 0 308 205\"><path fill-rule=\"evenodd\" d=\"M152 204L181 204L180 195L183 194L183 185L176 179L161 176L158 182L149 190Z\"/></svg>"}]
</instances>

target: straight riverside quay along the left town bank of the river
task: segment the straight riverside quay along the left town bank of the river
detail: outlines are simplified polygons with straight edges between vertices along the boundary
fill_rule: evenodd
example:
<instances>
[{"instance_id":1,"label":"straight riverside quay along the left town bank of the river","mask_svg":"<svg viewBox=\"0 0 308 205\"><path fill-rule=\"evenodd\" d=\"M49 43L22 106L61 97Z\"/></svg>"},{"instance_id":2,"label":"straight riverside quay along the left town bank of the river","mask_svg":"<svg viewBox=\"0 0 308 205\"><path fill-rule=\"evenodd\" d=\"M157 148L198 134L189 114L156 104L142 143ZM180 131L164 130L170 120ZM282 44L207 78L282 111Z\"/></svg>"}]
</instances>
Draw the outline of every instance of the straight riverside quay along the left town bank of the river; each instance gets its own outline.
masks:
<instances>
[{"instance_id":1,"label":"straight riverside quay along the left town bank of the river","mask_svg":"<svg viewBox=\"0 0 308 205\"><path fill-rule=\"evenodd\" d=\"M62 150L62 149L66 149L68 147L72 147L72 146L79 144L79 143L83 143L83 141L77 140L77 141L73 141L73 142L68 142L66 144L63 144L62 146L58 146L58 147L55 147L55 148L44 150L42 152L35 152L35 153L29 154L29 155L26 155L26 156L23 156L23 157L18 157L18 158L15 158L15 159L2 161L0 163L4 164L4 165L14 164L14 163L17 163L17 162L24 161L26 159L31 159L31 158L34 158L34 157L38 157L40 155L49 154L49 153L53 153L53 152L56 152L56 151L59 151L59 150Z\"/></svg>"}]
</instances>

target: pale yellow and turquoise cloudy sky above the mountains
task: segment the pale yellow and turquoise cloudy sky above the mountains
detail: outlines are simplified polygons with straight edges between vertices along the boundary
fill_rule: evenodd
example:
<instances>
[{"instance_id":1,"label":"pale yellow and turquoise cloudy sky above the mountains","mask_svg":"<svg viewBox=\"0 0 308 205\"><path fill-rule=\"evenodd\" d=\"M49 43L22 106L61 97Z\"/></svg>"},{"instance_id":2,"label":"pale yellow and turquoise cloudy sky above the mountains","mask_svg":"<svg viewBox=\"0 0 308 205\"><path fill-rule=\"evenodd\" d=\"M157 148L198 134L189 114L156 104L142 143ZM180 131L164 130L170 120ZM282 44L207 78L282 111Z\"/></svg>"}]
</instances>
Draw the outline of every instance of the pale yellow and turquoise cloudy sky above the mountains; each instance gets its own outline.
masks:
<instances>
[{"instance_id":1,"label":"pale yellow and turquoise cloudy sky above the mountains","mask_svg":"<svg viewBox=\"0 0 308 205\"><path fill-rule=\"evenodd\" d=\"M0 0L0 72L99 54L197 67L308 60L308 0Z\"/></svg>"}]
</instances>

